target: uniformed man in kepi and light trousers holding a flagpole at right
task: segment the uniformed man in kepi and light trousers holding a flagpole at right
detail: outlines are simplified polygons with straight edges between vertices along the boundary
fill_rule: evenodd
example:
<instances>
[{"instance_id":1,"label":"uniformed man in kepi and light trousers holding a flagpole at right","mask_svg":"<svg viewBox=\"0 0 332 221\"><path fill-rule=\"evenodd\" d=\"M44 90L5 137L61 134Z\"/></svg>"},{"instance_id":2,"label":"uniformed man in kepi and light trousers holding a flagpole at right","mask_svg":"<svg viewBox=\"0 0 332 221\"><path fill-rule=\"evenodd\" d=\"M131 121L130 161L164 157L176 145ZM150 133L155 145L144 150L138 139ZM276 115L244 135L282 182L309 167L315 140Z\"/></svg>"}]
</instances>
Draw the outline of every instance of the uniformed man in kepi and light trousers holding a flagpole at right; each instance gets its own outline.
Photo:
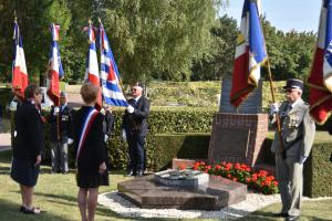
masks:
<instances>
[{"instance_id":1,"label":"uniformed man in kepi and light trousers holding a flagpole at right","mask_svg":"<svg viewBox=\"0 0 332 221\"><path fill-rule=\"evenodd\" d=\"M300 218L303 188L303 164L309 157L314 140L315 125L309 115L309 105L301 98L303 82L295 78L287 81L286 98L279 106L271 105L271 120L276 125L276 113L280 117L281 144L278 131L271 150L276 154L279 189L282 209L276 217L287 221ZM273 116L273 117L272 117Z\"/></svg>"}]
</instances>

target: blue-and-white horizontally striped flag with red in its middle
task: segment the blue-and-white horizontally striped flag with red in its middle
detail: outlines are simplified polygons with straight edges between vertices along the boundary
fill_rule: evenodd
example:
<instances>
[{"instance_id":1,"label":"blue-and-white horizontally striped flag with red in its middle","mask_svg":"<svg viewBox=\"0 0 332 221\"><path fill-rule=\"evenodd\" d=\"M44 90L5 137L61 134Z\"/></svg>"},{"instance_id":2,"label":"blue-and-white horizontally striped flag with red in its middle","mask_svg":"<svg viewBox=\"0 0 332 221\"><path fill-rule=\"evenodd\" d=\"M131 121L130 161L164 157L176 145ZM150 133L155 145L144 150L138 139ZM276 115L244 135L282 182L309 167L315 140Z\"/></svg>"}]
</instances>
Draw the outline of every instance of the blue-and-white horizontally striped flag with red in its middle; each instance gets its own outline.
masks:
<instances>
[{"instance_id":1,"label":"blue-and-white horizontally striped flag with red in its middle","mask_svg":"<svg viewBox=\"0 0 332 221\"><path fill-rule=\"evenodd\" d=\"M100 27L101 81L106 104L128 106L120 85L120 74L103 24Z\"/></svg>"}]
</instances>

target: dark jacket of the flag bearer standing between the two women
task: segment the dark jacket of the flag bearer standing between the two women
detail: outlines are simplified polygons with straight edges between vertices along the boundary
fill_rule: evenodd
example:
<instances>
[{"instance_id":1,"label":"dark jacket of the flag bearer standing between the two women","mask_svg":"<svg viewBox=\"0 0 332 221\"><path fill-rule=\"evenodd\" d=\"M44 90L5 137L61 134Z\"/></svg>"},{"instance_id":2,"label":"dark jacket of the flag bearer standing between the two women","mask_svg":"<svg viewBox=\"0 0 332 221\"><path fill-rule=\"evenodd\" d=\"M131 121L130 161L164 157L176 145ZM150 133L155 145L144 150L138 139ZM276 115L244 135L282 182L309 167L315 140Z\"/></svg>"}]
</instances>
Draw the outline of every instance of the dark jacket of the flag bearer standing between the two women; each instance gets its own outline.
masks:
<instances>
[{"instance_id":1,"label":"dark jacket of the flag bearer standing between the two women","mask_svg":"<svg viewBox=\"0 0 332 221\"><path fill-rule=\"evenodd\" d=\"M52 106L50 115L48 116L48 123L51 124L50 140L58 141L58 116L54 116L54 106ZM59 135L60 141L66 143L68 138L73 137L73 109L65 105L59 112Z\"/></svg>"}]
</instances>

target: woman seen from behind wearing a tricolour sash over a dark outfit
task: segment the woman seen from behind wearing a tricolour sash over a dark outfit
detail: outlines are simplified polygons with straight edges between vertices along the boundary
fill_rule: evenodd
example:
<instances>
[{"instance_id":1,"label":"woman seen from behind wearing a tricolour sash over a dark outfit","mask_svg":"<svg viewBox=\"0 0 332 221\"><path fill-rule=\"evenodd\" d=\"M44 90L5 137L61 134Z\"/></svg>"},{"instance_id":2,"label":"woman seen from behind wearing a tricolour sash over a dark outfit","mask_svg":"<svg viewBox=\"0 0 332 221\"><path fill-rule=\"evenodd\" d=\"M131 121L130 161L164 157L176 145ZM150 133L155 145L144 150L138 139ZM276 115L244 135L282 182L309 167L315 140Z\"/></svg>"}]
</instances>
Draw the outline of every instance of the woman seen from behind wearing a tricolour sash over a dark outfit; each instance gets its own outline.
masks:
<instances>
[{"instance_id":1,"label":"woman seen from behind wearing a tricolour sash over a dark outfit","mask_svg":"<svg viewBox=\"0 0 332 221\"><path fill-rule=\"evenodd\" d=\"M94 108L97 93L95 85L84 83L81 87L84 106L74 115L77 202L83 221L94 220L98 187L110 185L103 133L104 116Z\"/></svg>"}]
</instances>

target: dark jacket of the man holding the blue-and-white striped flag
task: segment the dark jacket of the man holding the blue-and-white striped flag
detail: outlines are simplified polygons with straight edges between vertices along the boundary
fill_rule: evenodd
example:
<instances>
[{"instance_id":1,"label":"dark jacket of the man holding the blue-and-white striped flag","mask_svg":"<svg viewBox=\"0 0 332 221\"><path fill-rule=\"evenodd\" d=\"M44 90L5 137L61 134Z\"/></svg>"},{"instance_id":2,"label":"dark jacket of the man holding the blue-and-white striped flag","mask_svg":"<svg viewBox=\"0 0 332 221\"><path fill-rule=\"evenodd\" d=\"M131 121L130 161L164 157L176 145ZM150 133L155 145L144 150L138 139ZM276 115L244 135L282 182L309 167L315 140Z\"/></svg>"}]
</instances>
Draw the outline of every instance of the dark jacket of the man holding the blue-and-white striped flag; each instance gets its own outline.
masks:
<instances>
[{"instance_id":1,"label":"dark jacket of the man holding the blue-and-white striped flag","mask_svg":"<svg viewBox=\"0 0 332 221\"><path fill-rule=\"evenodd\" d=\"M146 97L141 96L137 102L134 98L128 101L128 104L134 107L134 113L129 114L125 110L122 120L122 128L127 135L146 136L148 125L147 118L149 115L149 102Z\"/></svg>"}]
</instances>

